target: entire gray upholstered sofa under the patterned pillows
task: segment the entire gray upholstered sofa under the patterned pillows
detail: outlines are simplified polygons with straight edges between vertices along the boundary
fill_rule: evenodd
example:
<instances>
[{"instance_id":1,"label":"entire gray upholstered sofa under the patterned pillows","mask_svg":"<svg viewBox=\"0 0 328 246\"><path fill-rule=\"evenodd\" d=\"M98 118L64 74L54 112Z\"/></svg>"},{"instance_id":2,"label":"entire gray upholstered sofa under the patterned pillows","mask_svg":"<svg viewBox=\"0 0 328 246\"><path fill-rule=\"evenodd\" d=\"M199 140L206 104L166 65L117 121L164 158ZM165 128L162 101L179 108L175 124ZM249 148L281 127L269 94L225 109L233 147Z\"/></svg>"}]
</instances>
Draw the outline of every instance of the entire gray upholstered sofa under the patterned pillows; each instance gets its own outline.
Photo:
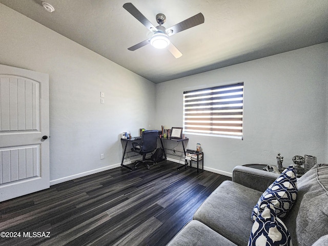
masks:
<instances>
[{"instance_id":1,"label":"entire gray upholstered sofa under the patterned pillows","mask_svg":"<svg viewBox=\"0 0 328 246\"><path fill-rule=\"evenodd\" d=\"M168 246L230 246L248 244L252 210L278 174L237 166L201 204L193 220ZM285 218L293 246L328 245L328 165L315 165L297 179L296 202Z\"/></svg>"}]
</instances>

